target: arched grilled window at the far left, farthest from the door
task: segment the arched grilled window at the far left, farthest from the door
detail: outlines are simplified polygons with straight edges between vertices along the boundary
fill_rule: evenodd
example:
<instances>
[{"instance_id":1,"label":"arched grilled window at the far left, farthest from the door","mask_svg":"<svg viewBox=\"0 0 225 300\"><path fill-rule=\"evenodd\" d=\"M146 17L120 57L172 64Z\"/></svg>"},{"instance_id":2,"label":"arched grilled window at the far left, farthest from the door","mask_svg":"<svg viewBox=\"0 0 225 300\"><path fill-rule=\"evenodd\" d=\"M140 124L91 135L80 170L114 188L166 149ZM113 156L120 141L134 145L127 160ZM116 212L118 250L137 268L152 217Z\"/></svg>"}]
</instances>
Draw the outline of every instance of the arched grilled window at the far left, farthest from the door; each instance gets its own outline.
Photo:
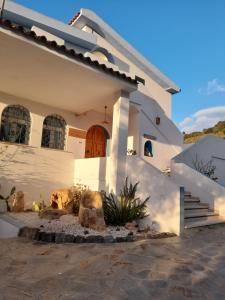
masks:
<instances>
[{"instance_id":1,"label":"arched grilled window at the far left, farthest from the door","mask_svg":"<svg viewBox=\"0 0 225 300\"><path fill-rule=\"evenodd\" d=\"M2 112L0 140L28 144L30 113L21 105L9 105Z\"/></svg>"}]
</instances>

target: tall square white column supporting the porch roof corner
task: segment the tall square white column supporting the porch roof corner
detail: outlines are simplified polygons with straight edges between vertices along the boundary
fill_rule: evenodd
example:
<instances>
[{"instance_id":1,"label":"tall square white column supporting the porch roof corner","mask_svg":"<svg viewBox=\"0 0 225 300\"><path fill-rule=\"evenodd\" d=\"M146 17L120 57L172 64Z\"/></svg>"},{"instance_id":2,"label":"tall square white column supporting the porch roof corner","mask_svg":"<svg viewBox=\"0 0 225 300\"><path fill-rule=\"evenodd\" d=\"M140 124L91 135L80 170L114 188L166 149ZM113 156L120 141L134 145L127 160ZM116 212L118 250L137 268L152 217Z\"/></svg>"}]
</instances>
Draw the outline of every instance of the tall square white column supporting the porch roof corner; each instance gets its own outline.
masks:
<instances>
[{"instance_id":1,"label":"tall square white column supporting the porch roof corner","mask_svg":"<svg viewBox=\"0 0 225 300\"><path fill-rule=\"evenodd\" d=\"M122 91L113 107L109 191L119 195L126 177L129 93Z\"/></svg>"}]
</instances>

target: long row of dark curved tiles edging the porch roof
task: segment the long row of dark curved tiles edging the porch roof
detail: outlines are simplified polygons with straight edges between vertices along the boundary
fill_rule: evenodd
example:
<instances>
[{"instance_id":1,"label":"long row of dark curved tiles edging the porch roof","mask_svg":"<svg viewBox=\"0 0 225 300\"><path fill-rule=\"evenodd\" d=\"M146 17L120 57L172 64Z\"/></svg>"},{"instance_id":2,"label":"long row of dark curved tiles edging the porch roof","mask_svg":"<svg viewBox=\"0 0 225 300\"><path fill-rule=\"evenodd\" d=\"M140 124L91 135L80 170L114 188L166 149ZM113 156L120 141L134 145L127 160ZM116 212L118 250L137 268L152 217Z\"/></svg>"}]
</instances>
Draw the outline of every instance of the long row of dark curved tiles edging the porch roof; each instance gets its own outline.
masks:
<instances>
[{"instance_id":1,"label":"long row of dark curved tiles edging the porch roof","mask_svg":"<svg viewBox=\"0 0 225 300\"><path fill-rule=\"evenodd\" d=\"M110 74L114 77L117 77L121 80L124 80L130 84L137 85L138 82L127 76L124 73L115 71L112 68L107 67L105 64L99 63L97 60L92 60L90 57L85 57L81 53L76 53L73 49L68 49L64 45L58 45L56 41L49 41L46 36L38 36L34 31L27 29L21 25L12 23L10 20L0 18L0 27L7 28L17 34L22 35L23 37L33 40L39 44L45 45L46 47L53 49L57 52L60 52L76 61L87 64L93 68L101 70L107 74Z\"/></svg>"}]
</instances>

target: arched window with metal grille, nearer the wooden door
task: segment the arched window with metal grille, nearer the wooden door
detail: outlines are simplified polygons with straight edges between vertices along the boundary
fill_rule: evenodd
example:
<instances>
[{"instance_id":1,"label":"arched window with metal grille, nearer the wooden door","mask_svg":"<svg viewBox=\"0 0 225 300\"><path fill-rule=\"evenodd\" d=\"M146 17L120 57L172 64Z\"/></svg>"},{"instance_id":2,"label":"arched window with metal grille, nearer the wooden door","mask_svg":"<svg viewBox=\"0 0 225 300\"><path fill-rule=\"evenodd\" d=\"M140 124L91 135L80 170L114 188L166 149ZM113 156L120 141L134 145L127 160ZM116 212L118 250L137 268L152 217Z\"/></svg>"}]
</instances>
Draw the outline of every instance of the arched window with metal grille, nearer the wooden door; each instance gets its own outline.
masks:
<instances>
[{"instance_id":1,"label":"arched window with metal grille, nearer the wooden door","mask_svg":"<svg viewBox=\"0 0 225 300\"><path fill-rule=\"evenodd\" d=\"M41 146L52 149L64 149L66 122L58 115L47 116L43 122Z\"/></svg>"}]
</instances>

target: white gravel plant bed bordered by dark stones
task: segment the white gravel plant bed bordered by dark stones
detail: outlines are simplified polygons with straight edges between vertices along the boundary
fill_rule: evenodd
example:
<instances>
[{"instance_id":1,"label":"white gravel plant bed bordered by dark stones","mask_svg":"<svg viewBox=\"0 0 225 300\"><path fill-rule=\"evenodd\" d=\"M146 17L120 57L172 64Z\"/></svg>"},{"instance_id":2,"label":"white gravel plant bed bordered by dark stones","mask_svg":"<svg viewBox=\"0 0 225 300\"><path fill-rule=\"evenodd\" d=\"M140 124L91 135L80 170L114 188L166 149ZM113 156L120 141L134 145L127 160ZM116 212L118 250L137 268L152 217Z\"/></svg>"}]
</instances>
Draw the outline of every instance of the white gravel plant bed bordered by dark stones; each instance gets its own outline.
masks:
<instances>
[{"instance_id":1,"label":"white gravel plant bed bordered by dark stones","mask_svg":"<svg viewBox=\"0 0 225 300\"><path fill-rule=\"evenodd\" d=\"M174 236L155 230L138 232L138 228L128 230L124 226L108 226L106 230L98 232L82 227L73 215L64 215L56 220L41 219L34 212L10 215L24 223L19 232L20 237L47 243L121 243Z\"/></svg>"}]
</instances>

